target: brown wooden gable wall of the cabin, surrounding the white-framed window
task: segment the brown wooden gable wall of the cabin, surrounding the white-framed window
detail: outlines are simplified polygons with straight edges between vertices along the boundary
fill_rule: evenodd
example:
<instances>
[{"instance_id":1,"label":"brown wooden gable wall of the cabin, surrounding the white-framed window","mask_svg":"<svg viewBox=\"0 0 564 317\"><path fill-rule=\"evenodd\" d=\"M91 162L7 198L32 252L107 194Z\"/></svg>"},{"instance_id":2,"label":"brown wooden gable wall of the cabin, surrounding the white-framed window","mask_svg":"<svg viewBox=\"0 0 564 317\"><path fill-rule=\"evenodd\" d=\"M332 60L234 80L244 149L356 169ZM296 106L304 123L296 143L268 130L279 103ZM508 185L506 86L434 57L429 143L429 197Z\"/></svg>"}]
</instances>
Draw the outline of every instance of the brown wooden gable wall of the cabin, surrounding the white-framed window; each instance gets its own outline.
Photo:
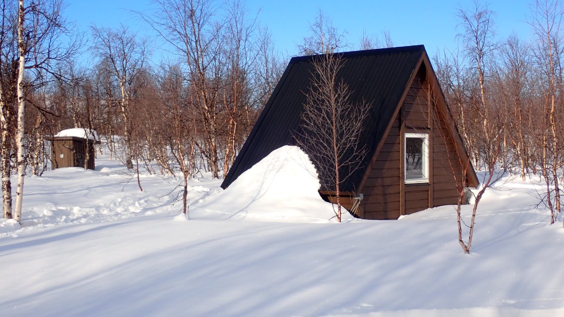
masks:
<instances>
[{"instance_id":1,"label":"brown wooden gable wall of the cabin, surrounding the white-framed window","mask_svg":"<svg viewBox=\"0 0 564 317\"><path fill-rule=\"evenodd\" d=\"M457 152L446 120L440 111L431 111L431 107L437 109L434 94L429 93L431 87L425 64L421 64L359 189L364 195L360 217L396 219L426 208L456 204L456 184L449 156L456 158ZM429 134L428 184L404 184L405 133ZM461 172L460 167L455 169L457 173Z\"/></svg>"}]
</instances>

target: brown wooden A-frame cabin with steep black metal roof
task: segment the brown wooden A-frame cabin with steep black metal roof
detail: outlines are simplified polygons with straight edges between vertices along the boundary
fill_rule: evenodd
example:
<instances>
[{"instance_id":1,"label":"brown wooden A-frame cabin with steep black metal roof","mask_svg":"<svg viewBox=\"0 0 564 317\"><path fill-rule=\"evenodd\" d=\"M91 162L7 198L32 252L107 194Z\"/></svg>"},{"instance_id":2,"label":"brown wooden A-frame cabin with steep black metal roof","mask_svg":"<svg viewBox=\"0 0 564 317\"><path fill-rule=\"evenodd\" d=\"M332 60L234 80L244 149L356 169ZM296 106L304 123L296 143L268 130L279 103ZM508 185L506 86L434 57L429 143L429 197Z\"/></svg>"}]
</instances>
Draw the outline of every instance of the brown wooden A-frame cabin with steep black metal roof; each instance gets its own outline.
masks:
<instances>
[{"instance_id":1,"label":"brown wooden A-frame cabin with steep black metal roof","mask_svg":"<svg viewBox=\"0 0 564 317\"><path fill-rule=\"evenodd\" d=\"M396 219L456 204L455 176L461 179L465 169L468 185L478 185L424 46L337 54L344 61L338 78L352 91L350 101L371 104L360 136L367 155L361 168L341 184L348 195L343 206L350 209L360 202L355 208L360 218ZM300 129L316 58L290 60L223 188L271 151L296 145L294 135ZM326 171L318 168L318 173L324 176ZM320 194L332 200L328 189L321 188Z\"/></svg>"}]
</instances>

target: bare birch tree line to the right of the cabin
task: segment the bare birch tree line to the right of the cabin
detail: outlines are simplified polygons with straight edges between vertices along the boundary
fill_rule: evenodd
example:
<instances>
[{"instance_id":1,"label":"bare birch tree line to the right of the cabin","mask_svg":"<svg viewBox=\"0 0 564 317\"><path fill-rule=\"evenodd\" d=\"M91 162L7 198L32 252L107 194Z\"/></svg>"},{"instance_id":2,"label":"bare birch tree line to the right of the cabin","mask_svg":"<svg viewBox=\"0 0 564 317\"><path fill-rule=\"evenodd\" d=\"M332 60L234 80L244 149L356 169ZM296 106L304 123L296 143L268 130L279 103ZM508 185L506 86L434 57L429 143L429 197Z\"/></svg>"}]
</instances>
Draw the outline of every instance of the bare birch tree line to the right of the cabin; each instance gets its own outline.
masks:
<instances>
[{"instance_id":1,"label":"bare birch tree line to the right of the cabin","mask_svg":"<svg viewBox=\"0 0 564 317\"><path fill-rule=\"evenodd\" d=\"M462 46L433 59L472 163L488 171L482 188L507 171L540 176L538 206L549 209L551 224L564 181L563 16L559 1L537 0L526 15L532 37L499 39L495 12L475 3L457 11Z\"/></svg>"}]
</instances>

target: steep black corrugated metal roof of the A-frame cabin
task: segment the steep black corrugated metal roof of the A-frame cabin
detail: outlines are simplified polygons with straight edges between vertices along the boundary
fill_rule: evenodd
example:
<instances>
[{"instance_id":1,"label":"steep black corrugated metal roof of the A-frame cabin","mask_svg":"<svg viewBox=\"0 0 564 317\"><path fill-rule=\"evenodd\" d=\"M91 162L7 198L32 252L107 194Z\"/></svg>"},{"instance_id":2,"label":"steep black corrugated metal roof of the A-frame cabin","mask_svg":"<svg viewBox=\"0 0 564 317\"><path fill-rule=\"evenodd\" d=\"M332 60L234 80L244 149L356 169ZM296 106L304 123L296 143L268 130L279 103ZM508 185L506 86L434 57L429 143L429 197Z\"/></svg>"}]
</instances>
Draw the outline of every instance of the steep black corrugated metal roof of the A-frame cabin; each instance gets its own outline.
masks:
<instances>
[{"instance_id":1,"label":"steep black corrugated metal roof of the A-frame cabin","mask_svg":"<svg viewBox=\"0 0 564 317\"><path fill-rule=\"evenodd\" d=\"M373 157L378 142L393 119L395 110L406 90L409 79L425 52L422 45L381 48L378 50L338 53L344 60L339 73L352 91L351 102L372 104L365 119L360 142L366 145L367 155L351 177L341 184L342 191L354 191ZM247 169L265 158L271 151L284 145L296 145L293 132L298 131L300 114L309 91L313 70L312 60L318 56L293 57L277 84L265 109L258 118L248 139L222 187L228 187ZM318 171L322 174L324 171ZM320 175L323 177L323 175Z\"/></svg>"}]
</instances>

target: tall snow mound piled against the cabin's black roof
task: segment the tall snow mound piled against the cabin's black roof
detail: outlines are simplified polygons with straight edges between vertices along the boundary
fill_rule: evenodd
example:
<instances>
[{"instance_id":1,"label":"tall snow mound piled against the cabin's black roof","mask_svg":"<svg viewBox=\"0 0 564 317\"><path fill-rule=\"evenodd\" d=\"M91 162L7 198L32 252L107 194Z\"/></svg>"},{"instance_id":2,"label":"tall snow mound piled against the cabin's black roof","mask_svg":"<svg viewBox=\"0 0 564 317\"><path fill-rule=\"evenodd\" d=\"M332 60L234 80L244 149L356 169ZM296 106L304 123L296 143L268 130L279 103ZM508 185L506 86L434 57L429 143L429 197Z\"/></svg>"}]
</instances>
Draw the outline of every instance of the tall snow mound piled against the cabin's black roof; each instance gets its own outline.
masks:
<instances>
[{"instance_id":1,"label":"tall snow mound piled against the cabin's black roof","mask_svg":"<svg viewBox=\"0 0 564 317\"><path fill-rule=\"evenodd\" d=\"M333 206L318 193L314 165L297 146L283 146L244 172L226 190L195 206L195 218L211 211L233 220L336 221ZM336 207L335 207L336 208ZM354 219L343 210L343 221Z\"/></svg>"}]
</instances>

